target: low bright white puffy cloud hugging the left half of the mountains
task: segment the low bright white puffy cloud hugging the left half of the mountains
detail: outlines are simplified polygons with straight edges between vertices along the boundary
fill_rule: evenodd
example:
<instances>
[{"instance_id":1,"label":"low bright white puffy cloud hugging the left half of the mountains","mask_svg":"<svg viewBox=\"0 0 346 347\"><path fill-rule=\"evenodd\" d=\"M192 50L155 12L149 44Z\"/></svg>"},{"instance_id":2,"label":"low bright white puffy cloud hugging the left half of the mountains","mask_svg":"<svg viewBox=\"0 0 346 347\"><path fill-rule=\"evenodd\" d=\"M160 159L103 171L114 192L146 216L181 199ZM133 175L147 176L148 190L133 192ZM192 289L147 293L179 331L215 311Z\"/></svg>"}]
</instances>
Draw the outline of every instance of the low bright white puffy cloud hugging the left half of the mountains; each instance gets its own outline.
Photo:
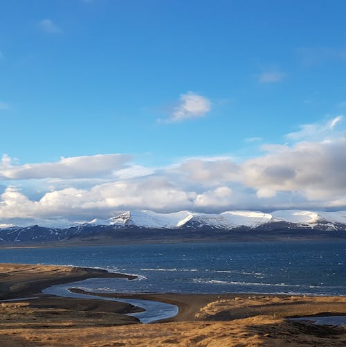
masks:
<instances>
[{"instance_id":1,"label":"low bright white puffy cloud hugging the left half of the mountains","mask_svg":"<svg viewBox=\"0 0 346 347\"><path fill-rule=\"evenodd\" d=\"M90 189L65 188L46 193L37 201L28 199L18 188L9 187L1 195L0 221L48 219L56 215L65 220L88 219L95 215L109 217L112 211L129 206L167 211L192 207L195 196L162 177L111 182Z\"/></svg>"}]
</instances>

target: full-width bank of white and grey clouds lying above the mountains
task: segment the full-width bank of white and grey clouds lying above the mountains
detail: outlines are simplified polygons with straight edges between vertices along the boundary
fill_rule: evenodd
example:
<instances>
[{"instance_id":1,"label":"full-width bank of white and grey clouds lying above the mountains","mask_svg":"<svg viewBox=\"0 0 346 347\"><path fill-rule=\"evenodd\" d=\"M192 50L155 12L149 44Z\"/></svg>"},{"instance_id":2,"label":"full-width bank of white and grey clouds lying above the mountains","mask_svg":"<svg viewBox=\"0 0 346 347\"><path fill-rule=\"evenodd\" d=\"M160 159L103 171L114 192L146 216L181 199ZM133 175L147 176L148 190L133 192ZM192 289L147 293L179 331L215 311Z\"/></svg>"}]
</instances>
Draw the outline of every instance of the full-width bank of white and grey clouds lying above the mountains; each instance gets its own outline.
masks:
<instances>
[{"instance_id":1,"label":"full-width bank of white and grey clouds lying above the mountains","mask_svg":"<svg viewBox=\"0 0 346 347\"><path fill-rule=\"evenodd\" d=\"M342 127L342 116L302 125L284 137L290 143L262 145L262 154L240 162L232 157L189 158L147 168L128 154L99 154L20 165L4 154L0 224L76 222L145 208L342 210L346 208ZM35 189L38 198L32 196Z\"/></svg>"}]
</instances>

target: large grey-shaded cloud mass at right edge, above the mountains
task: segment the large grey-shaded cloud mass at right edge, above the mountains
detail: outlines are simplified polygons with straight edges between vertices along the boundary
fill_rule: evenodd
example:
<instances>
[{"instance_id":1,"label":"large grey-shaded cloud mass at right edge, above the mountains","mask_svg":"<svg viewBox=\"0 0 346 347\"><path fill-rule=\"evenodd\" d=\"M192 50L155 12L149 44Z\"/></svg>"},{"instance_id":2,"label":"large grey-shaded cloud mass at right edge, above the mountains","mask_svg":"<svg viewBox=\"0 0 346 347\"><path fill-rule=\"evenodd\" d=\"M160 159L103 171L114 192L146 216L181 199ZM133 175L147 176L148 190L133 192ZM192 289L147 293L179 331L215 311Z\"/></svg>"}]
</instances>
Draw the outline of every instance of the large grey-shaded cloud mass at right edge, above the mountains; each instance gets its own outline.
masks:
<instances>
[{"instance_id":1,"label":"large grey-shaded cloud mass at right edge, above the mountains","mask_svg":"<svg viewBox=\"0 0 346 347\"><path fill-rule=\"evenodd\" d=\"M345 139L331 143L298 143L281 152L245 161L242 164L244 184L258 190L260 197L295 190L311 200L346 195L345 153Z\"/></svg>"}]
</instances>

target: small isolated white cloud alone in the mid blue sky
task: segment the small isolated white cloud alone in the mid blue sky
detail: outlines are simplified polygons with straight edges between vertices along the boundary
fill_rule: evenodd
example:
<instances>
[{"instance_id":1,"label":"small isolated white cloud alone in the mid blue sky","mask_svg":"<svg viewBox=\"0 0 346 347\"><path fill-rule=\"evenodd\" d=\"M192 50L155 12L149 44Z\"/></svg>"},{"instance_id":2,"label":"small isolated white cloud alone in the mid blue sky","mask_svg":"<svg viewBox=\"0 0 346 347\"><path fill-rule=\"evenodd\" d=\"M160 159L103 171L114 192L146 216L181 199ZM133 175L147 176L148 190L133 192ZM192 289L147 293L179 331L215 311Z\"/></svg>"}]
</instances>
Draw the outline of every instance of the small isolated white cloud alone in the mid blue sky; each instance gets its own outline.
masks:
<instances>
[{"instance_id":1,"label":"small isolated white cloud alone in the mid blue sky","mask_svg":"<svg viewBox=\"0 0 346 347\"><path fill-rule=\"evenodd\" d=\"M200 118L210 112L212 103L204 96L189 91L188 94L181 94L180 102L175 107L169 122L183 121L189 118Z\"/></svg>"}]
</instances>

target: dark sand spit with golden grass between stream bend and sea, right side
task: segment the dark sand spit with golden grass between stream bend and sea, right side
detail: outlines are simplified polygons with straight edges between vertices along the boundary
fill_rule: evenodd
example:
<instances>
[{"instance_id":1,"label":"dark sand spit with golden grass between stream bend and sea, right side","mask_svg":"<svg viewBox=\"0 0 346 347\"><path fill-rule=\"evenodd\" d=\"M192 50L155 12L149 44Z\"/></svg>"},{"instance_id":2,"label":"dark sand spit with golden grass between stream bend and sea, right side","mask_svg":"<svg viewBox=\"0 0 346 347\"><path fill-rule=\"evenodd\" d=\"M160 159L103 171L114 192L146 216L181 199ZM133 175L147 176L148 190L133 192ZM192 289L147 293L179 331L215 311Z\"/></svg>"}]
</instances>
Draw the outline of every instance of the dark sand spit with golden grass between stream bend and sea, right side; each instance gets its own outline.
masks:
<instances>
[{"instance_id":1,"label":"dark sand spit with golden grass between stream bend and sea, right side","mask_svg":"<svg viewBox=\"0 0 346 347\"><path fill-rule=\"evenodd\" d=\"M217 317L208 317L215 321L244 319L258 314L274 314L275 317L307 317L342 315L346 316L346 296L302 296L291 294L178 294L178 293L142 293L142 294L122 294L122 293L100 293L88 292L80 288L69 288L73 293L103 296L113 299L141 299L161 301L176 305L179 308L176 316L161 319L158 322L179 322L196 321L201 310L210 303L233 303L239 301L243 305L253 305L255 301L260 305L253 305L253 308L241 307L233 309L233 312L218 312ZM342 304L342 307L341 305ZM226 310L224 310L226 311ZM327 312L327 314L326 314ZM206 315L207 317L208 315Z\"/></svg>"}]
</instances>

